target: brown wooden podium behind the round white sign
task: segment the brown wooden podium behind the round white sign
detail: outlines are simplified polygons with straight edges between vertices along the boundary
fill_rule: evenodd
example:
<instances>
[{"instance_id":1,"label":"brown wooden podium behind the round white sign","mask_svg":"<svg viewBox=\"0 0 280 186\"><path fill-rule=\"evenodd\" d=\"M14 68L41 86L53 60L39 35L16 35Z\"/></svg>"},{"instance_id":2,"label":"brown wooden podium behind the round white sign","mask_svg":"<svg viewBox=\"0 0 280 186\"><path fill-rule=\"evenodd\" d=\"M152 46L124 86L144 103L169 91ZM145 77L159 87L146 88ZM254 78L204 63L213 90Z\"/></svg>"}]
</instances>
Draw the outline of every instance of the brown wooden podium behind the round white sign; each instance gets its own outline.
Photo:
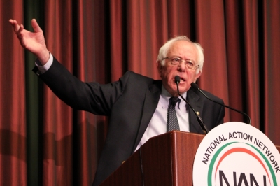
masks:
<instances>
[{"instance_id":1,"label":"brown wooden podium behind the round white sign","mask_svg":"<svg viewBox=\"0 0 280 186\"><path fill-rule=\"evenodd\" d=\"M101 185L193 185L193 162L203 138L182 131L155 136Z\"/></svg>"}]
</instances>

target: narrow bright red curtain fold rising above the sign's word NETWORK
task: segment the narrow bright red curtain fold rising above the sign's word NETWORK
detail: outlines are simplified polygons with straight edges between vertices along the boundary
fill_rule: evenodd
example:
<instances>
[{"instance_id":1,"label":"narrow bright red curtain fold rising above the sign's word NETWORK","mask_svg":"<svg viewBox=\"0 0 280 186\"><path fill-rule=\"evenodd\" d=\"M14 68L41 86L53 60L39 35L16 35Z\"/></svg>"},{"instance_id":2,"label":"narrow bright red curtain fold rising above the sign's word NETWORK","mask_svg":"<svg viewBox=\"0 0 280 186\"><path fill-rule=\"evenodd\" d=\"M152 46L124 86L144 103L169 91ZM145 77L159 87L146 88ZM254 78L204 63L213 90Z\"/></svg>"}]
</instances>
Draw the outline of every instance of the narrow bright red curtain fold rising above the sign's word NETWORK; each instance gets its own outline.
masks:
<instances>
[{"instance_id":1,"label":"narrow bright red curtain fold rising above the sign's word NETWORK","mask_svg":"<svg viewBox=\"0 0 280 186\"><path fill-rule=\"evenodd\" d=\"M247 103L246 113L251 116L252 124L255 127L260 127L260 87L259 84L259 56L260 51L258 46L261 45L258 41L258 3L257 1L243 1L244 7L244 52L245 59L241 62L242 68L245 71L244 81L246 87L246 97L244 101Z\"/></svg>"}]
</instances>

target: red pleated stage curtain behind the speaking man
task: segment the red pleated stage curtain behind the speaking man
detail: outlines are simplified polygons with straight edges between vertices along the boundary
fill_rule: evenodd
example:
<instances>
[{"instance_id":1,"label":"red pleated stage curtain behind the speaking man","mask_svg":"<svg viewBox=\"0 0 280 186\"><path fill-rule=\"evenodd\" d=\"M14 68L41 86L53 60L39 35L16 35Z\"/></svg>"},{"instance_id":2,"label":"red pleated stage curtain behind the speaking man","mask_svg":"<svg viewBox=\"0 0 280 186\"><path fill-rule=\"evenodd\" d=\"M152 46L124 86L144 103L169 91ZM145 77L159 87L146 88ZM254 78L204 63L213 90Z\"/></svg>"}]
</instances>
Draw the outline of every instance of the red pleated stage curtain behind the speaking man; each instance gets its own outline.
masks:
<instances>
[{"instance_id":1,"label":"red pleated stage curtain behind the speaking man","mask_svg":"<svg viewBox=\"0 0 280 186\"><path fill-rule=\"evenodd\" d=\"M1 0L0 185L91 185L108 120L72 110L38 80L10 18L29 30L36 18L59 62L99 83L127 70L159 78L160 46L186 35L204 48L198 85L280 145L280 1ZM227 110L229 121L247 122Z\"/></svg>"}]
</instances>

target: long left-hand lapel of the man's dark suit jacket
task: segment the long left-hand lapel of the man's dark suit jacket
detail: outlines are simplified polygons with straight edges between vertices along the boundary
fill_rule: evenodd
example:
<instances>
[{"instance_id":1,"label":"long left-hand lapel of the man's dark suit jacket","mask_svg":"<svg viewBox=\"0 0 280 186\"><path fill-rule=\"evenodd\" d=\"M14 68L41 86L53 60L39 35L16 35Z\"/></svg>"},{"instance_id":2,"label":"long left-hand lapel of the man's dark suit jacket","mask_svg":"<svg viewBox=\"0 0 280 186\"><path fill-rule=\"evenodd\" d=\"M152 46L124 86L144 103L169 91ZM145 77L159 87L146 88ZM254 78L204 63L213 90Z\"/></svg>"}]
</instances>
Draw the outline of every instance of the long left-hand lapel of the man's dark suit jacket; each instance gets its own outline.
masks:
<instances>
[{"instance_id":1,"label":"long left-hand lapel of the man's dark suit jacket","mask_svg":"<svg viewBox=\"0 0 280 186\"><path fill-rule=\"evenodd\" d=\"M153 117L153 113L155 113L155 109L158 106L158 101L160 100L161 88L161 81L156 81L155 84L149 87L149 90L146 90L146 96L141 116L141 123L139 125L137 138L134 143L133 152L137 148L139 142L141 141L141 138L144 135L144 132L146 131L148 124L151 121L151 118Z\"/></svg>"}]
</instances>

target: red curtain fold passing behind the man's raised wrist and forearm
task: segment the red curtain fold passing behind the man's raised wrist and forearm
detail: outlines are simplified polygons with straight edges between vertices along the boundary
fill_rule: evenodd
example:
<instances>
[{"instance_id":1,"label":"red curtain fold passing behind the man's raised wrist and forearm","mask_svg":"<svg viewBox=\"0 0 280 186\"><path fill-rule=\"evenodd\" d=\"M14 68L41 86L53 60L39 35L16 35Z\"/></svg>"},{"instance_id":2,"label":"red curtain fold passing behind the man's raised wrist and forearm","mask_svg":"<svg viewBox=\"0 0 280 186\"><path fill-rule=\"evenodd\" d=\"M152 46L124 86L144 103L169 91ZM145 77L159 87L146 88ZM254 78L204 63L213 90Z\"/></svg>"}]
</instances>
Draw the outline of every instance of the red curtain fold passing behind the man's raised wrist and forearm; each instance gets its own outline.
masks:
<instances>
[{"instance_id":1,"label":"red curtain fold passing behind the man's raised wrist and forearm","mask_svg":"<svg viewBox=\"0 0 280 186\"><path fill-rule=\"evenodd\" d=\"M48 50L73 72L71 1L45 1L45 42ZM71 185L73 113L43 87L43 185Z\"/></svg>"}]
</instances>

